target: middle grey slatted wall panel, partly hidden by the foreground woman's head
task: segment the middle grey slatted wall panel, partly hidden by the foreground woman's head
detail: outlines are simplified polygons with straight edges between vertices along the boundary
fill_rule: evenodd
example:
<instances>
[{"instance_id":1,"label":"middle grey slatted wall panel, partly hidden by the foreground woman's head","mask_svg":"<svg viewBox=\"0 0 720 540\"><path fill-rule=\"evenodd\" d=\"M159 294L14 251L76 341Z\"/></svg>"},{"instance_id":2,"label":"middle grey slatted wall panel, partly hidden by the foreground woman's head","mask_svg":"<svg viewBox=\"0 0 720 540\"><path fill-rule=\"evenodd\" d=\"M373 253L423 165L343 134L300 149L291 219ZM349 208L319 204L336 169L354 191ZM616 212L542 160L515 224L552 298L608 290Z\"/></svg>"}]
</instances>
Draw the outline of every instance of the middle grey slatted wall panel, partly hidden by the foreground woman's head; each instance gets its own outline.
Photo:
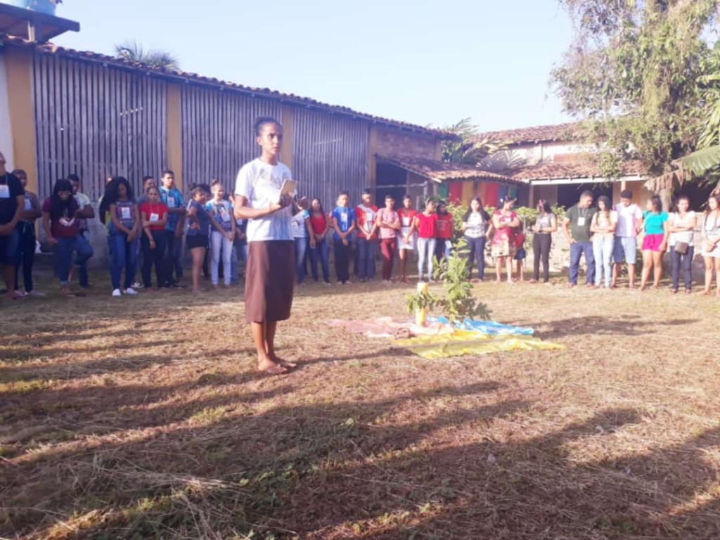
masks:
<instances>
[{"instance_id":1,"label":"middle grey slatted wall panel, partly hidden by the foreground woman's head","mask_svg":"<svg viewBox=\"0 0 720 540\"><path fill-rule=\"evenodd\" d=\"M259 117L282 122L279 103L184 85L182 91L182 146L184 186L210 184L220 179L233 193L240 167L260 155L253 125Z\"/></svg>"}]
</instances>

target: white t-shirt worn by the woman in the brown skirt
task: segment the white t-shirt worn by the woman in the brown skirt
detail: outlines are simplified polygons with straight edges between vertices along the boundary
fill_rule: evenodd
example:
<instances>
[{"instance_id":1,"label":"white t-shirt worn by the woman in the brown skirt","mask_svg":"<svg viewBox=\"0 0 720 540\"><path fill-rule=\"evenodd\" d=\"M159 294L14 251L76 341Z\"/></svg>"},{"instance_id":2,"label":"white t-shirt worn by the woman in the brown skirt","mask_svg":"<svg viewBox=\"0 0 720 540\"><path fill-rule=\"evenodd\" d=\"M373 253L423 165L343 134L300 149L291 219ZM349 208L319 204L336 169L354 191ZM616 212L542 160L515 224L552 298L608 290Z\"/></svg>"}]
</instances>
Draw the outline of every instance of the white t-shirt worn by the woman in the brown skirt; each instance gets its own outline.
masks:
<instances>
[{"instance_id":1,"label":"white t-shirt worn by the woman in the brown skirt","mask_svg":"<svg viewBox=\"0 0 720 540\"><path fill-rule=\"evenodd\" d=\"M243 165L235 181L235 195L246 197L248 207L268 208L277 202L285 180L292 173L282 163L269 165L254 159ZM248 220L248 242L292 240L292 207L286 207L265 217Z\"/></svg>"}]
</instances>

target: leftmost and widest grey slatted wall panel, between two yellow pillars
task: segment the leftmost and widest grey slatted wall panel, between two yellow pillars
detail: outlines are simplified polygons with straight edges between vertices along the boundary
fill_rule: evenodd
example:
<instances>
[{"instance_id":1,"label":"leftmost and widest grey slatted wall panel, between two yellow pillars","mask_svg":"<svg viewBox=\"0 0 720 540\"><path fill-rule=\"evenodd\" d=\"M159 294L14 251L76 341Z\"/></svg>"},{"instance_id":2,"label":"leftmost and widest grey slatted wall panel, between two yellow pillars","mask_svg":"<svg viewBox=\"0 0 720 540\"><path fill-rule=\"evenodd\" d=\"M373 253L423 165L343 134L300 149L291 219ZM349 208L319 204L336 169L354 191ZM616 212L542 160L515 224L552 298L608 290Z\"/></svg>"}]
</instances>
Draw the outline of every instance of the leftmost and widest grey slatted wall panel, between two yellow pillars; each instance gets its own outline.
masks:
<instances>
[{"instance_id":1,"label":"leftmost and widest grey slatted wall panel, between two yellow pillars","mask_svg":"<svg viewBox=\"0 0 720 540\"><path fill-rule=\"evenodd\" d=\"M91 199L107 175L136 192L166 161L166 84L156 78L37 53L34 59L38 192L76 173Z\"/></svg>"}]
</instances>

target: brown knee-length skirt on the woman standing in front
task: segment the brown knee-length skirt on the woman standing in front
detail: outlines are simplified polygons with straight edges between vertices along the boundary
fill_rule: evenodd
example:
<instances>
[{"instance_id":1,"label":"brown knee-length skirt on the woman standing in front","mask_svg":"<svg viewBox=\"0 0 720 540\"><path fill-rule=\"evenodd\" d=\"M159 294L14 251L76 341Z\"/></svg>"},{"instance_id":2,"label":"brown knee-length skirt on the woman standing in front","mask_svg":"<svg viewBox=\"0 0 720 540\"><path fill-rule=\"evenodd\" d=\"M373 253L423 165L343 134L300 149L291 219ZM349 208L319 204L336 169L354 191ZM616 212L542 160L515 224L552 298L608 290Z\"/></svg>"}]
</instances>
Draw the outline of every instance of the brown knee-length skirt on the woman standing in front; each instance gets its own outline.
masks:
<instances>
[{"instance_id":1,"label":"brown knee-length skirt on the woman standing in front","mask_svg":"<svg viewBox=\"0 0 720 540\"><path fill-rule=\"evenodd\" d=\"M274 323L290 318L295 271L292 240L248 242L245 320Z\"/></svg>"}]
</instances>

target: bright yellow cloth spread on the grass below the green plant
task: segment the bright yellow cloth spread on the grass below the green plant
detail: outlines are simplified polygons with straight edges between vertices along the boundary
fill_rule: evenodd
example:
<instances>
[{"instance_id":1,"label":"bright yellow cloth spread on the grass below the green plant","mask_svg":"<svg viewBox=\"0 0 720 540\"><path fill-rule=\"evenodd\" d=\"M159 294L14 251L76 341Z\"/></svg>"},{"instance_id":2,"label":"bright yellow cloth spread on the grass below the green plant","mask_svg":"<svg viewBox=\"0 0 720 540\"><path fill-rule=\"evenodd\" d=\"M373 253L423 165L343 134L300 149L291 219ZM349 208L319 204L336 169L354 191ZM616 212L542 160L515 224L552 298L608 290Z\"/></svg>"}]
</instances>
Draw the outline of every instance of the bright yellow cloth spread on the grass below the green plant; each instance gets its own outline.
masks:
<instances>
[{"instance_id":1,"label":"bright yellow cloth spread on the grass below the green plant","mask_svg":"<svg viewBox=\"0 0 720 540\"><path fill-rule=\"evenodd\" d=\"M564 348L557 343L533 336L487 336L473 330L455 330L441 336L417 336L396 339L393 343L425 359L449 358L465 354L490 354L503 351L541 351Z\"/></svg>"}]
</instances>

